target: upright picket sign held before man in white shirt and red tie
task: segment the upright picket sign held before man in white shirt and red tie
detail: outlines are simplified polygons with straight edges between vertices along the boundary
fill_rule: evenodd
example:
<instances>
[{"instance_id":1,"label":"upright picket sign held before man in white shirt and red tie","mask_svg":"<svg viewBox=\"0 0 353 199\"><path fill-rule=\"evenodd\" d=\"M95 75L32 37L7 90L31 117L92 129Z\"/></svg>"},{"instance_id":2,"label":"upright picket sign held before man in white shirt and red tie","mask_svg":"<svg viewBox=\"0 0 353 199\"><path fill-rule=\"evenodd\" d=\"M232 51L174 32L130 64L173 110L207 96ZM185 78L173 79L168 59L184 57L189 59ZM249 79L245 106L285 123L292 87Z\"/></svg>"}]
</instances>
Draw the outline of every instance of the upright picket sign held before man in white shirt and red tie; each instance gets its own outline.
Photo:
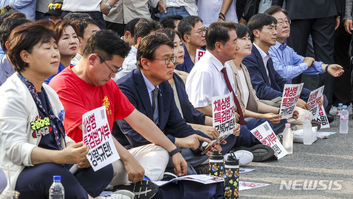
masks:
<instances>
[{"instance_id":1,"label":"upright picket sign held before man in white shirt and red tie","mask_svg":"<svg viewBox=\"0 0 353 199\"><path fill-rule=\"evenodd\" d=\"M212 97L212 125L220 136L233 133L235 127L233 93Z\"/></svg>"}]
</instances>

